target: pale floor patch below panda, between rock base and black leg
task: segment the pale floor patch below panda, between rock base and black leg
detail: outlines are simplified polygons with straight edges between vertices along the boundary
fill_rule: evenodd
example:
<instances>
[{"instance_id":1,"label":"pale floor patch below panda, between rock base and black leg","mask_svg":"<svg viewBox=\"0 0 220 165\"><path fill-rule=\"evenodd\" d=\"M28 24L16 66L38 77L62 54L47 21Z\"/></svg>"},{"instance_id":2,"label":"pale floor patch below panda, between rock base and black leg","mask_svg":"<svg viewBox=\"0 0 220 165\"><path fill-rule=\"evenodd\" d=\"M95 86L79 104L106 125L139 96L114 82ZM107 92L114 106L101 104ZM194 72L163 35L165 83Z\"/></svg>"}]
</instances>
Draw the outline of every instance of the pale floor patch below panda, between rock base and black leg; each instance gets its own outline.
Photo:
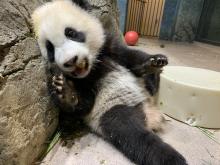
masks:
<instances>
[{"instance_id":1,"label":"pale floor patch below panda, between rock base and black leg","mask_svg":"<svg viewBox=\"0 0 220 165\"><path fill-rule=\"evenodd\" d=\"M134 165L102 138L87 134L72 140L71 147L56 144L40 165Z\"/></svg>"}]
</instances>

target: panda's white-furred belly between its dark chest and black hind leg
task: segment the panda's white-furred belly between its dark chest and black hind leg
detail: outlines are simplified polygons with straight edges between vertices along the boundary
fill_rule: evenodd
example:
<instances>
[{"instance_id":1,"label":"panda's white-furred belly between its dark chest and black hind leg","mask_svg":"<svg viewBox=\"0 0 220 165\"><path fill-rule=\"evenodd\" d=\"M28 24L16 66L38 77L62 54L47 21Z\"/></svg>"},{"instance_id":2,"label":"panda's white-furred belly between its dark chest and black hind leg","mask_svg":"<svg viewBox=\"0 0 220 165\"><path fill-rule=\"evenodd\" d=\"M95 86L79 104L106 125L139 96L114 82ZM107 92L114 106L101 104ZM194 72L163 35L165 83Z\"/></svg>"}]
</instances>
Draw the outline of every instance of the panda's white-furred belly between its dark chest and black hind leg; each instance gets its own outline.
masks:
<instances>
[{"instance_id":1,"label":"panda's white-furred belly between its dark chest and black hind leg","mask_svg":"<svg viewBox=\"0 0 220 165\"><path fill-rule=\"evenodd\" d=\"M135 106L146 100L144 88L129 71L121 66L117 66L117 70L102 78L98 86L94 106L86 117L86 122L96 132L100 131L100 117L115 105Z\"/></svg>"}]
</instances>

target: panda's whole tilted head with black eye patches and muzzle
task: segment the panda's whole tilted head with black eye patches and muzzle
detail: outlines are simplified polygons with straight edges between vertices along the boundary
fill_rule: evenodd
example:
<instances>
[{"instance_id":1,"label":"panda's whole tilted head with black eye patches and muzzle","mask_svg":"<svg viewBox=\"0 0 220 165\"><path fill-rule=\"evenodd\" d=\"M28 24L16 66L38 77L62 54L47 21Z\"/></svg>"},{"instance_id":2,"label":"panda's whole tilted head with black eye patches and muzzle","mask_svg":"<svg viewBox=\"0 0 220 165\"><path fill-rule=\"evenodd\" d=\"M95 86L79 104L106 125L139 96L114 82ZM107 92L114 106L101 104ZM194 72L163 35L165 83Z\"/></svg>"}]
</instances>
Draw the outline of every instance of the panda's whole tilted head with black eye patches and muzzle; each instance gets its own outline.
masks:
<instances>
[{"instance_id":1,"label":"panda's whole tilted head with black eye patches and muzzle","mask_svg":"<svg viewBox=\"0 0 220 165\"><path fill-rule=\"evenodd\" d=\"M42 55L65 73L83 78L96 62L105 35L100 21L91 16L87 3L56 0L36 9L34 31Z\"/></svg>"}]
</instances>

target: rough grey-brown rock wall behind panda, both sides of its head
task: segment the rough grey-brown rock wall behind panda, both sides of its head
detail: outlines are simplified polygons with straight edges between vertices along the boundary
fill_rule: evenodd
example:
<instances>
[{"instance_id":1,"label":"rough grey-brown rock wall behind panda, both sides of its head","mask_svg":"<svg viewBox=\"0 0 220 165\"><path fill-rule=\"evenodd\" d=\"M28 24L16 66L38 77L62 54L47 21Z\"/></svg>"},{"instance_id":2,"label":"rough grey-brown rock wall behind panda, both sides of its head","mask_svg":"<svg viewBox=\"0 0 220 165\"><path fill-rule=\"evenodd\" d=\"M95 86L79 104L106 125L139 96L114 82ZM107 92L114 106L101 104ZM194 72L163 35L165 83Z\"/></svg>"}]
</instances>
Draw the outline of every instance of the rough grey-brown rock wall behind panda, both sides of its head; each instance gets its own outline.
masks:
<instances>
[{"instance_id":1,"label":"rough grey-brown rock wall behind panda, both sides of its head","mask_svg":"<svg viewBox=\"0 0 220 165\"><path fill-rule=\"evenodd\" d=\"M33 163L58 123L30 15L46 0L0 1L0 165ZM104 27L118 30L116 0L90 0Z\"/></svg>"}]
</instances>

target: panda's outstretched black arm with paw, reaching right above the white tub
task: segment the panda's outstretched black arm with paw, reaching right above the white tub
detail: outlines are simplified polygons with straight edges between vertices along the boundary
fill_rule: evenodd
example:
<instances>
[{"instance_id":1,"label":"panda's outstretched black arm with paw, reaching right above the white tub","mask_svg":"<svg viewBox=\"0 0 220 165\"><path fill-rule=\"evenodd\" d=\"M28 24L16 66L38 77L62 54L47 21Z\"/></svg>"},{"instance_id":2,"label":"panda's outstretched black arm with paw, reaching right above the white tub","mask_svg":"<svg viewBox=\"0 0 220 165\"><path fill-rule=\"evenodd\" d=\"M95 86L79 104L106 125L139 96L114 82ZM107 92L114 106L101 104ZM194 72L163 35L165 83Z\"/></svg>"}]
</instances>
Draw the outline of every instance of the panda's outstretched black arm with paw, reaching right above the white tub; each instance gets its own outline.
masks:
<instances>
[{"instance_id":1,"label":"panda's outstretched black arm with paw, reaching right above the white tub","mask_svg":"<svg viewBox=\"0 0 220 165\"><path fill-rule=\"evenodd\" d=\"M155 73L155 71L168 64L168 60L164 55L150 55L140 50L130 49L118 42L118 39L111 34L107 33L106 36L104 50L109 52L109 56L114 61L130 69L138 77L141 77L143 74ZM151 58L154 61L151 61ZM159 58L163 58L164 61L157 64Z\"/></svg>"}]
</instances>

